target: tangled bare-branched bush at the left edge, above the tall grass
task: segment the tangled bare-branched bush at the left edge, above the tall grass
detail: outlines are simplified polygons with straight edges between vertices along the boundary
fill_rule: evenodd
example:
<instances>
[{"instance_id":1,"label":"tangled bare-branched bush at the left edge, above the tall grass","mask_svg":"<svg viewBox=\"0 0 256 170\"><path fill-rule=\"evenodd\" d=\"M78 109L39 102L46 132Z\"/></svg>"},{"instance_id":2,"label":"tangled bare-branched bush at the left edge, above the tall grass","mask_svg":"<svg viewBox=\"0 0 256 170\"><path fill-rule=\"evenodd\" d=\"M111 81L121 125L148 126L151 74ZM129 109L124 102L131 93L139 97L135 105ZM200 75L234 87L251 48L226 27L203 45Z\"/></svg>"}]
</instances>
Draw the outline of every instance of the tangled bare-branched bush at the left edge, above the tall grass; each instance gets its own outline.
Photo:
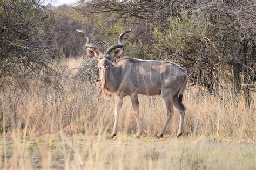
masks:
<instances>
[{"instance_id":1,"label":"tangled bare-branched bush at the left edge, above the tall grass","mask_svg":"<svg viewBox=\"0 0 256 170\"><path fill-rule=\"evenodd\" d=\"M48 70L54 58L45 44L49 12L35 1L2 1L0 16L0 86L13 84L16 78L22 85L40 70Z\"/></svg>"}]
</instances>

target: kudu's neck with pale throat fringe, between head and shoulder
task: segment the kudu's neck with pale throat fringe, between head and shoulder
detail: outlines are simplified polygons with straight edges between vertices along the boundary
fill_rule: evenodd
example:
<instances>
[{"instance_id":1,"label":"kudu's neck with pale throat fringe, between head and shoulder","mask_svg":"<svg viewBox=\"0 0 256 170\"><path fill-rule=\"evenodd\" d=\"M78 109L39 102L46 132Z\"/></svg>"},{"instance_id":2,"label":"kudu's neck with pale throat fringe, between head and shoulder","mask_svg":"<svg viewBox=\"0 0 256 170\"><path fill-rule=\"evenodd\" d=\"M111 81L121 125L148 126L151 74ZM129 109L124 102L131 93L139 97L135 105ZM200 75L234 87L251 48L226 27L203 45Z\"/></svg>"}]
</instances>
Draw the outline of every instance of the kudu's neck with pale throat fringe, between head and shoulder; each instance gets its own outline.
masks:
<instances>
[{"instance_id":1,"label":"kudu's neck with pale throat fringe, between head and shoulder","mask_svg":"<svg viewBox=\"0 0 256 170\"><path fill-rule=\"evenodd\" d=\"M100 69L99 71L103 93L106 97L110 97L118 90L120 67L110 65L106 70Z\"/></svg>"}]
</instances>

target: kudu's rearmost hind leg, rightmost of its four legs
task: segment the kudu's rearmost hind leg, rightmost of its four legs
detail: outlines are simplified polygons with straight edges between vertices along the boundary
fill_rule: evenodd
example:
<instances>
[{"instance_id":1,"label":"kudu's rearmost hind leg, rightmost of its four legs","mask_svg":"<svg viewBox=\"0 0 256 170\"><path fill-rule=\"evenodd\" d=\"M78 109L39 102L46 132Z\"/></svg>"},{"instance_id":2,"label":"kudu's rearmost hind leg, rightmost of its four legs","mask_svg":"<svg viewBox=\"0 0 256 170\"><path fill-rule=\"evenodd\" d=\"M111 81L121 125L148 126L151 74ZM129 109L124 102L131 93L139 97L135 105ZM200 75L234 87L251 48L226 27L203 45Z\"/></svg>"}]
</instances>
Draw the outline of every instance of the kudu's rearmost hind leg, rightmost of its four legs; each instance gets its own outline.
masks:
<instances>
[{"instance_id":1,"label":"kudu's rearmost hind leg, rightmost of its four legs","mask_svg":"<svg viewBox=\"0 0 256 170\"><path fill-rule=\"evenodd\" d=\"M179 137L183 132L183 124L184 124L186 108L182 104L182 98L179 98L177 96L173 98L173 104L174 104L174 107L176 107L179 110L179 131L177 133L177 137Z\"/></svg>"}]
</instances>

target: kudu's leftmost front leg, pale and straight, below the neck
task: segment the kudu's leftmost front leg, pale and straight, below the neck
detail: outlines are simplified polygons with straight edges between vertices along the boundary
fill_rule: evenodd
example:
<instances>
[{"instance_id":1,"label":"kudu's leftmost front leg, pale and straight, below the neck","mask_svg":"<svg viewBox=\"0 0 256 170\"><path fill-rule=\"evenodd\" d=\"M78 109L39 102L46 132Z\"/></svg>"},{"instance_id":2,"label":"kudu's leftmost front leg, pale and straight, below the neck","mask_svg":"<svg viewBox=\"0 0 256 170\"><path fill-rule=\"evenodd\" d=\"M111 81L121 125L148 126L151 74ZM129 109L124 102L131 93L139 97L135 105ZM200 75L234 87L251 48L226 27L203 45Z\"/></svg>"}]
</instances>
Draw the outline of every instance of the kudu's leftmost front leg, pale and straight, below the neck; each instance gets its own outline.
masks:
<instances>
[{"instance_id":1,"label":"kudu's leftmost front leg, pale and straight, below the neck","mask_svg":"<svg viewBox=\"0 0 256 170\"><path fill-rule=\"evenodd\" d=\"M118 128L118 117L123 104L123 97L116 95L114 97L114 129L111 138L116 136Z\"/></svg>"}]
</instances>

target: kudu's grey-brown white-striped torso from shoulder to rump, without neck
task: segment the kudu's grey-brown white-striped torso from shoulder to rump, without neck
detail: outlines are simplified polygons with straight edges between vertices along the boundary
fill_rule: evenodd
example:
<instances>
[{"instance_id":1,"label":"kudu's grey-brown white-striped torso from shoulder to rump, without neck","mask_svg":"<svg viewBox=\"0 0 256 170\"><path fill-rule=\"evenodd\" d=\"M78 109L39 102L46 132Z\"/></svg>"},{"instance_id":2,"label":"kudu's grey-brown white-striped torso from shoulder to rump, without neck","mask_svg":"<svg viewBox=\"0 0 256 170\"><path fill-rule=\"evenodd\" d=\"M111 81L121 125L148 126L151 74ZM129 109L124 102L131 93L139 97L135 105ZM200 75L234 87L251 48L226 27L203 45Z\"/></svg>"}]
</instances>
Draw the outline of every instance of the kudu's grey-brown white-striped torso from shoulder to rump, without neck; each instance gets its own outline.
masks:
<instances>
[{"instance_id":1,"label":"kudu's grey-brown white-striped torso from shoulder to rump, without neck","mask_svg":"<svg viewBox=\"0 0 256 170\"><path fill-rule=\"evenodd\" d=\"M160 95L167 90L174 96L186 86L186 73L174 63L124 58L117 66L121 68L120 85L128 93L136 89L139 94Z\"/></svg>"}]
</instances>

